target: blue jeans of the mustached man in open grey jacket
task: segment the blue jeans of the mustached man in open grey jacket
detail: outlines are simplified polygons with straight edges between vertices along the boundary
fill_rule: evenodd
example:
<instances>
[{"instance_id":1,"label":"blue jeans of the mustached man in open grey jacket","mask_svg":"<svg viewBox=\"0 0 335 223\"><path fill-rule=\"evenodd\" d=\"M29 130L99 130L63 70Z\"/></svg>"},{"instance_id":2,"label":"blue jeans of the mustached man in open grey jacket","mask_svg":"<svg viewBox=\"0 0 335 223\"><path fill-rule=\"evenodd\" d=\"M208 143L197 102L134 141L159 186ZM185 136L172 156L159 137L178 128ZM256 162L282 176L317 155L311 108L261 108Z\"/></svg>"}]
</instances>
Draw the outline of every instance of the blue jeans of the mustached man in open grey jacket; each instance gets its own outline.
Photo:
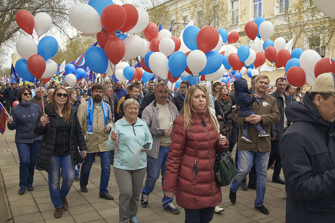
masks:
<instances>
[{"instance_id":1,"label":"blue jeans of the mustached man in open grey jacket","mask_svg":"<svg viewBox=\"0 0 335 223\"><path fill-rule=\"evenodd\" d=\"M160 172L162 174L162 185L163 185L165 164L169 152L170 152L170 146L168 147L160 146L157 159L151 156L147 156L148 173L145 179L145 186L142 189L142 194L149 195L153 191L156 180L159 178ZM164 193L164 197L162 199L162 202L164 203L163 208L166 208L166 206L173 201L173 198L165 197L165 191L163 191L163 193Z\"/></svg>"}]
</instances>

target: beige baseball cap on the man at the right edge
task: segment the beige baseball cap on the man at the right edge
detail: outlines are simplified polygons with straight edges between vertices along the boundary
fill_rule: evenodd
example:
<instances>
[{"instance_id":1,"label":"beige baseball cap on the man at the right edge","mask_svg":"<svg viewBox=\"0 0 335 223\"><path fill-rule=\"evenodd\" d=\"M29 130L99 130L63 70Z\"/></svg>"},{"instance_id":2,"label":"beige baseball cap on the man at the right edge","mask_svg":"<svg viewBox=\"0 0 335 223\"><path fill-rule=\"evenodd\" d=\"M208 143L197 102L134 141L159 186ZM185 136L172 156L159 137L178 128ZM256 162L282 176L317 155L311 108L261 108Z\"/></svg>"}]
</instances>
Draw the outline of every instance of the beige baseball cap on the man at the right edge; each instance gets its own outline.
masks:
<instances>
[{"instance_id":1,"label":"beige baseball cap on the man at the right edge","mask_svg":"<svg viewBox=\"0 0 335 223\"><path fill-rule=\"evenodd\" d=\"M309 92L328 93L335 97L335 74L320 74L317 78L315 78Z\"/></svg>"}]
</instances>

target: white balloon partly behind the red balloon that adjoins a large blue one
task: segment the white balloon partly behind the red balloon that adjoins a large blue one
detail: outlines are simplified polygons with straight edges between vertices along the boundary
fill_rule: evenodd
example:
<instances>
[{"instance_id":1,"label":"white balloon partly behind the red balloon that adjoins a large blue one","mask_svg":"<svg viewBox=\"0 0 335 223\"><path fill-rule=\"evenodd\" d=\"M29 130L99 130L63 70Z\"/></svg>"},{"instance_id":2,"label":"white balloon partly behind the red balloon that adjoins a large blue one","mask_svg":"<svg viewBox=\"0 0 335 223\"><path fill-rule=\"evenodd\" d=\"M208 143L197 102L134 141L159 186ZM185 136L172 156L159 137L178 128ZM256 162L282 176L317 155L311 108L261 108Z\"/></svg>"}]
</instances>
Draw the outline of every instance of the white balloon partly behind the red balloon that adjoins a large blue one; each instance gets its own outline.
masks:
<instances>
[{"instance_id":1,"label":"white balloon partly behind the red balloon that adjoins a large blue one","mask_svg":"<svg viewBox=\"0 0 335 223\"><path fill-rule=\"evenodd\" d=\"M122 60L129 60L137 57L142 53L144 48L143 38L138 35L129 35L126 39L124 39L123 43L126 47L125 55Z\"/></svg>"}]
</instances>

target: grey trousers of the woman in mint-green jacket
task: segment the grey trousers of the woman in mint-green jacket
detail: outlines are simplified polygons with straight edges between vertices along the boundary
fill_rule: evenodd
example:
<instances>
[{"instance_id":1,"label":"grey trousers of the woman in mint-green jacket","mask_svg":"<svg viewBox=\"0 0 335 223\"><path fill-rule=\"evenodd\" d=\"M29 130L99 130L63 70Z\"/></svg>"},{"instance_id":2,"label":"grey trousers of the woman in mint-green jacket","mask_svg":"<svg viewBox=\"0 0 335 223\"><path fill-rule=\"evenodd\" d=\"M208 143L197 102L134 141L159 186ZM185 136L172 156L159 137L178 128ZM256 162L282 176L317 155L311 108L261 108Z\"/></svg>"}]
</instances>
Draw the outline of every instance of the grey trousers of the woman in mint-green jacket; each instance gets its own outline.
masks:
<instances>
[{"instance_id":1,"label":"grey trousers of the woman in mint-green jacket","mask_svg":"<svg viewBox=\"0 0 335 223\"><path fill-rule=\"evenodd\" d=\"M136 216L146 168L124 170L114 167L119 186L119 222L124 223Z\"/></svg>"}]
</instances>

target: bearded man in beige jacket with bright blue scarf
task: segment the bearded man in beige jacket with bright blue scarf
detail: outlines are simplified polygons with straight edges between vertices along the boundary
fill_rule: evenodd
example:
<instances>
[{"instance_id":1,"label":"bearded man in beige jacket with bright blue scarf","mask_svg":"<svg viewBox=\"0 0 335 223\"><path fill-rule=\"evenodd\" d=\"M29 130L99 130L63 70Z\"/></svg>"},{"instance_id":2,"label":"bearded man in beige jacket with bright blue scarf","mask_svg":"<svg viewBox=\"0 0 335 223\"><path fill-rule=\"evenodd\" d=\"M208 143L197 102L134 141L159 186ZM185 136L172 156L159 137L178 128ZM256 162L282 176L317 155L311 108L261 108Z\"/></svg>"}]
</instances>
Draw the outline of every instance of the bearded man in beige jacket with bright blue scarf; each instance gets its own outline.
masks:
<instances>
[{"instance_id":1,"label":"bearded man in beige jacket with bright blue scarf","mask_svg":"<svg viewBox=\"0 0 335 223\"><path fill-rule=\"evenodd\" d=\"M102 101L104 88L101 84L92 87L92 98L79 105L78 119L85 136L87 155L81 166L80 190L87 192L89 172L95 153L99 153L101 163L100 198L113 200L108 194L108 181L111 174L111 153L107 147L107 140L113 126L113 109Z\"/></svg>"}]
</instances>

